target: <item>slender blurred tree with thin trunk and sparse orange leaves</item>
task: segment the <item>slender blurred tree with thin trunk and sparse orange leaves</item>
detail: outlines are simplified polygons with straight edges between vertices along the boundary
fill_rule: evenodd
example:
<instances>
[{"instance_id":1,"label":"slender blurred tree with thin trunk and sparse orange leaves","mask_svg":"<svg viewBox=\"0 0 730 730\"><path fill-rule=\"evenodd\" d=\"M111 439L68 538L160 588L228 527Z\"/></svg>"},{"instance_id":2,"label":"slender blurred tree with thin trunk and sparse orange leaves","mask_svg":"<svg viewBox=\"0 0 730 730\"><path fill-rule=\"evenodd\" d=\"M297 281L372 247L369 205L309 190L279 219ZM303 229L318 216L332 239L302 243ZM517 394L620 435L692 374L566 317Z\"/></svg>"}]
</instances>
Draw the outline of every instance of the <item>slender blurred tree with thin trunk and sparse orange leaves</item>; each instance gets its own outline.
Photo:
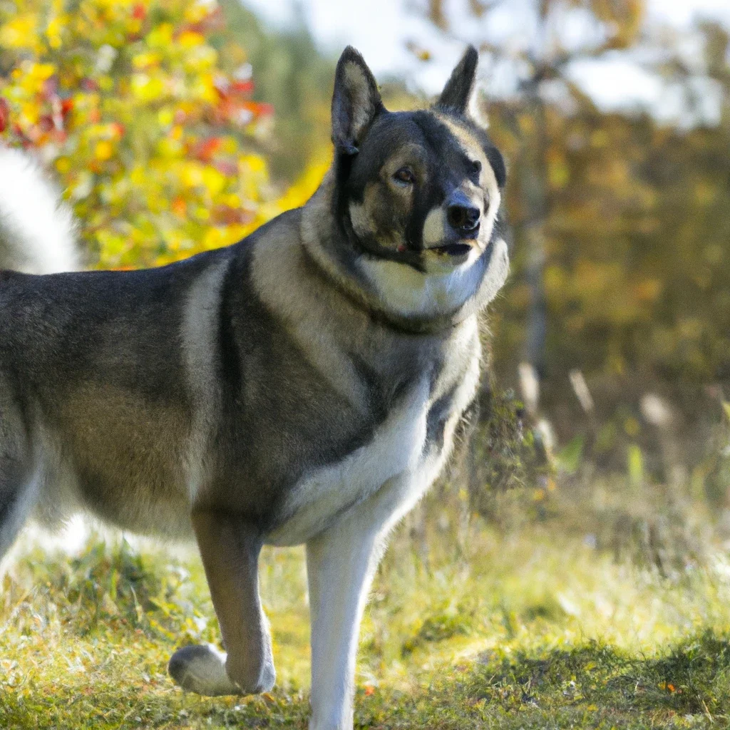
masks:
<instances>
[{"instance_id":1,"label":"slender blurred tree with thin trunk and sparse orange leaves","mask_svg":"<svg viewBox=\"0 0 730 730\"><path fill-rule=\"evenodd\" d=\"M559 155L548 144L548 105L556 96L562 97L562 104L570 104L580 94L566 75L570 64L625 50L636 42L644 4L642 0L535 0L520 7L519 13L515 10L520 32L513 34L509 43L494 41L488 32L491 16L497 12L504 16L506 3L469 0L461 5L454 14L466 13L471 16L471 22L462 19L452 23L453 9L449 12L439 0L429 1L426 15L448 37L476 42L491 69L499 69L514 79L512 118L505 119L504 123L515 133L509 152L512 171L518 180L520 206L512 211L512 224L522 244L520 250L526 259L522 272L530 291L523 357L542 374L547 337L544 278L548 186L550 176L560 174ZM585 40L581 42L570 39L564 31L571 15L577 15L584 26Z\"/></svg>"}]
</instances>

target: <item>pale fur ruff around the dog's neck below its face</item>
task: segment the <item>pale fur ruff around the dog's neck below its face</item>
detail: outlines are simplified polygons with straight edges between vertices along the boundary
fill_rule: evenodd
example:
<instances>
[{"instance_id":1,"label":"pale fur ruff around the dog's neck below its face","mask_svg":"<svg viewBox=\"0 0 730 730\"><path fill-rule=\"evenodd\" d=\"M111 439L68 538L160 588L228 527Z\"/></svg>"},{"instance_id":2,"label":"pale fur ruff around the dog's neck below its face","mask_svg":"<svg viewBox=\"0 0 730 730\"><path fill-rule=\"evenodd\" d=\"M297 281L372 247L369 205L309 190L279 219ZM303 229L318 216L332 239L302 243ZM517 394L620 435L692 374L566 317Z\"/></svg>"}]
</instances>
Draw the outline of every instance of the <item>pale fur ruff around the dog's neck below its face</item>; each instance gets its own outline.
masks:
<instances>
[{"instance_id":1,"label":"pale fur ruff around the dog's neck below its face","mask_svg":"<svg viewBox=\"0 0 730 730\"><path fill-rule=\"evenodd\" d=\"M502 239L490 242L469 266L451 272L420 272L362 252L350 240L353 234L338 225L333 196L330 171L302 210L301 242L307 258L358 308L391 328L407 334L450 331L488 304L507 277Z\"/></svg>"}]
</instances>

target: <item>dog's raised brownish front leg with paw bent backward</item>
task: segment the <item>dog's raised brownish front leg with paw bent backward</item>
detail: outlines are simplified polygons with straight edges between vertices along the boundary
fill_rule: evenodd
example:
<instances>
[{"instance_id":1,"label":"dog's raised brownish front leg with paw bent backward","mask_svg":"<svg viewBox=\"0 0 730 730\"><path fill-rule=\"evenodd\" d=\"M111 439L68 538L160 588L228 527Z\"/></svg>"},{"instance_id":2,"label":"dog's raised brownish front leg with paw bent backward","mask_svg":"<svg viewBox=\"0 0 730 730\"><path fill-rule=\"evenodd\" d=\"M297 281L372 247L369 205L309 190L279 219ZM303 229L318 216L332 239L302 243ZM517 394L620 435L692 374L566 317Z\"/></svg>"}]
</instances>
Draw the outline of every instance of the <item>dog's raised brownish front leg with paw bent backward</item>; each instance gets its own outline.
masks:
<instances>
[{"instance_id":1,"label":"dog's raised brownish front leg with paw bent backward","mask_svg":"<svg viewBox=\"0 0 730 730\"><path fill-rule=\"evenodd\" d=\"M170 659L170 675L198 694L269 691L276 673L258 595L261 534L239 516L222 512L194 513L193 529L228 654L207 645L185 647Z\"/></svg>"}]
</instances>

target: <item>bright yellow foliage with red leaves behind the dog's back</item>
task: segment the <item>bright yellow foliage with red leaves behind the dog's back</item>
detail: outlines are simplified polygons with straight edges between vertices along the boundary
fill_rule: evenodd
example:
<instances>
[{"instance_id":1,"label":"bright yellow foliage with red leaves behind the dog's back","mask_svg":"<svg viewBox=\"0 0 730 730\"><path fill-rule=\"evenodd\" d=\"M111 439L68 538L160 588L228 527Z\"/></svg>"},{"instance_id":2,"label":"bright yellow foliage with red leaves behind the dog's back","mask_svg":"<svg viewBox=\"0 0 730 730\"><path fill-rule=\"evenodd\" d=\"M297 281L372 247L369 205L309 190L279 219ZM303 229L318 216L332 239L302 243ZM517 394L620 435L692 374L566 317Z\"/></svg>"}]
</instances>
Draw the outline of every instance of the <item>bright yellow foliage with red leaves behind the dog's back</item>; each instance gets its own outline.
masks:
<instances>
[{"instance_id":1,"label":"bright yellow foliage with red leaves behind the dog's back","mask_svg":"<svg viewBox=\"0 0 730 730\"><path fill-rule=\"evenodd\" d=\"M1 137L42 150L102 268L235 242L321 180L326 165L312 164L274 195L253 151L271 110L250 99L250 82L218 68L220 17L208 0L0 6Z\"/></svg>"}]
</instances>

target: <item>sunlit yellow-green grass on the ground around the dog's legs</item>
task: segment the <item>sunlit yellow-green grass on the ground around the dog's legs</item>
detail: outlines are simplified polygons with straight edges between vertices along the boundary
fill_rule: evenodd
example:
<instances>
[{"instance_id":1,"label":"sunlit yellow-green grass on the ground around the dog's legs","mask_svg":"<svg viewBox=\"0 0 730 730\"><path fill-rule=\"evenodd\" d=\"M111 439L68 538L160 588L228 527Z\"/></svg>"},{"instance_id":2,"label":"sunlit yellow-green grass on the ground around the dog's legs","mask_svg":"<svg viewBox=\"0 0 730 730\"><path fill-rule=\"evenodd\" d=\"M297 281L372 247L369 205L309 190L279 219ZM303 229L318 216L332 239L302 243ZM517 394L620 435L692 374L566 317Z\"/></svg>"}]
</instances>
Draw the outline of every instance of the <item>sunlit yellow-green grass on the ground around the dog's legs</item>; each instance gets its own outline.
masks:
<instances>
[{"instance_id":1,"label":"sunlit yellow-green grass on the ground around the dog's legs","mask_svg":"<svg viewBox=\"0 0 730 730\"><path fill-rule=\"evenodd\" d=\"M427 556L407 523L378 572L361 634L356 726L730 726L722 558L668 580L555 524L506 534L475 524L459 548L438 521L429 522ZM195 556L99 542L77 558L27 553L0 596L0 728L304 729L300 550L266 551L262 591L277 688L205 699L166 675L175 648L216 637Z\"/></svg>"}]
</instances>

